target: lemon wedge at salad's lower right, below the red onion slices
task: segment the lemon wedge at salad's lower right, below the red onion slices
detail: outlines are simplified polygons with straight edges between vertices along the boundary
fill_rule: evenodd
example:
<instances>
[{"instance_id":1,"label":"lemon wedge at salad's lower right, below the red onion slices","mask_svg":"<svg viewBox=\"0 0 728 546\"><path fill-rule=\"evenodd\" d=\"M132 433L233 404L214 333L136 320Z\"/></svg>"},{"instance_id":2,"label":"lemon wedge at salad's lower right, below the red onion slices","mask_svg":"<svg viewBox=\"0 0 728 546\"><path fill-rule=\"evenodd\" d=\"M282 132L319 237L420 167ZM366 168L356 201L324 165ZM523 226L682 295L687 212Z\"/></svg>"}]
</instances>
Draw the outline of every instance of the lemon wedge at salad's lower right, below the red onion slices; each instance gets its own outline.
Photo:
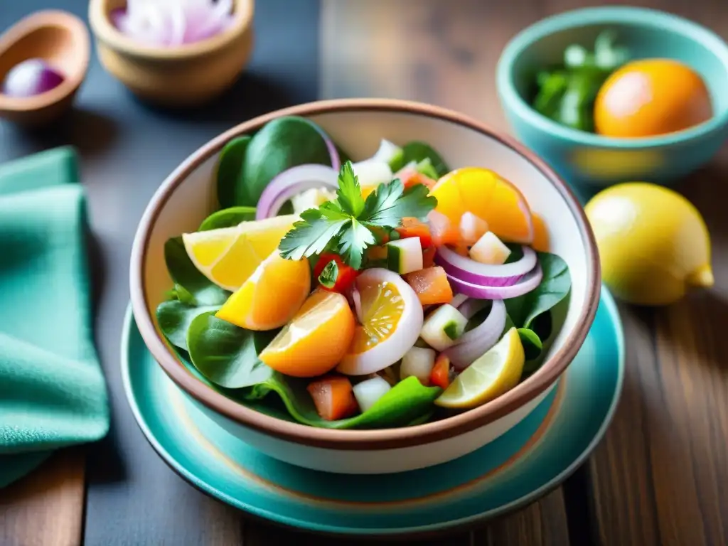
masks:
<instances>
[{"instance_id":1,"label":"lemon wedge at salad's lower right, below the red onion slices","mask_svg":"<svg viewBox=\"0 0 728 546\"><path fill-rule=\"evenodd\" d=\"M518 384L525 360L518 331L511 328L485 355L465 368L435 404L459 409L483 405Z\"/></svg>"}]
</instances>

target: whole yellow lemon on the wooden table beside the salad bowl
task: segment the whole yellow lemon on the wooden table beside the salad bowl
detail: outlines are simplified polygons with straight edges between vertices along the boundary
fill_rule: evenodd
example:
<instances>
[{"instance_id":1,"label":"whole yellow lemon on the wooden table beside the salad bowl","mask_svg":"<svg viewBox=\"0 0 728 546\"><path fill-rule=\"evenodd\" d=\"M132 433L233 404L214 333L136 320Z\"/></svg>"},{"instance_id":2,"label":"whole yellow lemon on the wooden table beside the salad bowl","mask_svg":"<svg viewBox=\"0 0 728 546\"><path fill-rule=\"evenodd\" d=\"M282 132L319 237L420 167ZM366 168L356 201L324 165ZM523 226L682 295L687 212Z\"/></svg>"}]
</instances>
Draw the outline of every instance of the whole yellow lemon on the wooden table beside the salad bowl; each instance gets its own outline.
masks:
<instances>
[{"instance_id":1,"label":"whole yellow lemon on the wooden table beside the salad bowl","mask_svg":"<svg viewBox=\"0 0 728 546\"><path fill-rule=\"evenodd\" d=\"M644 182L617 184L596 194L585 211L602 279L618 298L664 305L690 286L713 285L708 228L676 191Z\"/></svg>"}]
</instances>

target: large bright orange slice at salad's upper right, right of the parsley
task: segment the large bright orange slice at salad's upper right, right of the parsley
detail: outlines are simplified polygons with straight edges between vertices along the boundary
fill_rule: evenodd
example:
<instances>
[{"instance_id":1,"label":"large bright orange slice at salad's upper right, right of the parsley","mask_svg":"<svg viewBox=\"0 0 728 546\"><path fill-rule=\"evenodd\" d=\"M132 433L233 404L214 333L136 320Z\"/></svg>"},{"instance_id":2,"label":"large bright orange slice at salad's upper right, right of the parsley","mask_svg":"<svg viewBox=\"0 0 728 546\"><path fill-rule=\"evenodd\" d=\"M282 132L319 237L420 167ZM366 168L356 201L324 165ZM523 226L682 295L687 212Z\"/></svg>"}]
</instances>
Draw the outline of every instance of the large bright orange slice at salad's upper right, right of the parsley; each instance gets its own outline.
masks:
<instances>
[{"instance_id":1,"label":"large bright orange slice at salad's upper right, right of the parsley","mask_svg":"<svg viewBox=\"0 0 728 546\"><path fill-rule=\"evenodd\" d=\"M492 170L466 167L448 173L430 192L438 199L435 210L459 226L464 213L488 223L500 239L530 244L534 238L531 209L521 191Z\"/></svg>"}]
</instances>

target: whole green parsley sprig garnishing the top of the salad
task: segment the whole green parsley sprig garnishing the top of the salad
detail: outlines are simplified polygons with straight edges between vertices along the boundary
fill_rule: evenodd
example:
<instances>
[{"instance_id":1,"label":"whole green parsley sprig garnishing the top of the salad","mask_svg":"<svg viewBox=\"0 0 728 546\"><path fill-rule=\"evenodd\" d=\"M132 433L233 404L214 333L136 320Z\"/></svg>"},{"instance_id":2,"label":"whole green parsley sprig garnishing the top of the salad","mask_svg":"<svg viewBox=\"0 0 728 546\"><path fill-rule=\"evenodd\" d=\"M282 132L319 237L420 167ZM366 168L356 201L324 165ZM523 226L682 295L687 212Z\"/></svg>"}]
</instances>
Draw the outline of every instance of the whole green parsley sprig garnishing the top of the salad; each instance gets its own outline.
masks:
<instances>
[{"instance_id":1,"label":"whole green parsley sprig garnishing the top of the salad","mask_svg":"<svg viewBox=\"0 0 728 546\"><path fill-rule=\"evenodd\" d=\"M300 260L330 249L355 269L362 266L364 250L381 242L381 234L397 228L402 218L424 220L438 204L427 186L405 189L398 178L381 183L366 199L351 162L339 173L336 199L304 210L301 220L285 234L279 250L283 258Z\"/></svg>"}]
</instances>

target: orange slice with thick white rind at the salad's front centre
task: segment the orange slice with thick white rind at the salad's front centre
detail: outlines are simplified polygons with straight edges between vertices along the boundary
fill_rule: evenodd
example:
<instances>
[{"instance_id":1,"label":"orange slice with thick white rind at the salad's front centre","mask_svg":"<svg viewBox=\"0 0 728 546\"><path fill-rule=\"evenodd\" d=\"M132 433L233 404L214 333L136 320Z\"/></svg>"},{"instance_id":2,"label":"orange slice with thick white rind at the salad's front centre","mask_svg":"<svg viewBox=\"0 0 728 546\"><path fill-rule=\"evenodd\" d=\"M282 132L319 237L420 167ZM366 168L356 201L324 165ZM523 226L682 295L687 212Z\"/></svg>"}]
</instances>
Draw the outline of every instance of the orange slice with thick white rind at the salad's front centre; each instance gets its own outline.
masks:
<instances>
[{"instance_id":1,"label":"orange slice with thick white rind at the salad's front centre","mask_svg":"<svg viewBox=\"0 0 728 546\"><path fill-rule=\"evenodd\" d=\"M363 376L400 360L422 330L422 304L402 277L387 269L367 269L356 280L361 301L360 325L336 368Z\"/></svg>"}]
</instances>

